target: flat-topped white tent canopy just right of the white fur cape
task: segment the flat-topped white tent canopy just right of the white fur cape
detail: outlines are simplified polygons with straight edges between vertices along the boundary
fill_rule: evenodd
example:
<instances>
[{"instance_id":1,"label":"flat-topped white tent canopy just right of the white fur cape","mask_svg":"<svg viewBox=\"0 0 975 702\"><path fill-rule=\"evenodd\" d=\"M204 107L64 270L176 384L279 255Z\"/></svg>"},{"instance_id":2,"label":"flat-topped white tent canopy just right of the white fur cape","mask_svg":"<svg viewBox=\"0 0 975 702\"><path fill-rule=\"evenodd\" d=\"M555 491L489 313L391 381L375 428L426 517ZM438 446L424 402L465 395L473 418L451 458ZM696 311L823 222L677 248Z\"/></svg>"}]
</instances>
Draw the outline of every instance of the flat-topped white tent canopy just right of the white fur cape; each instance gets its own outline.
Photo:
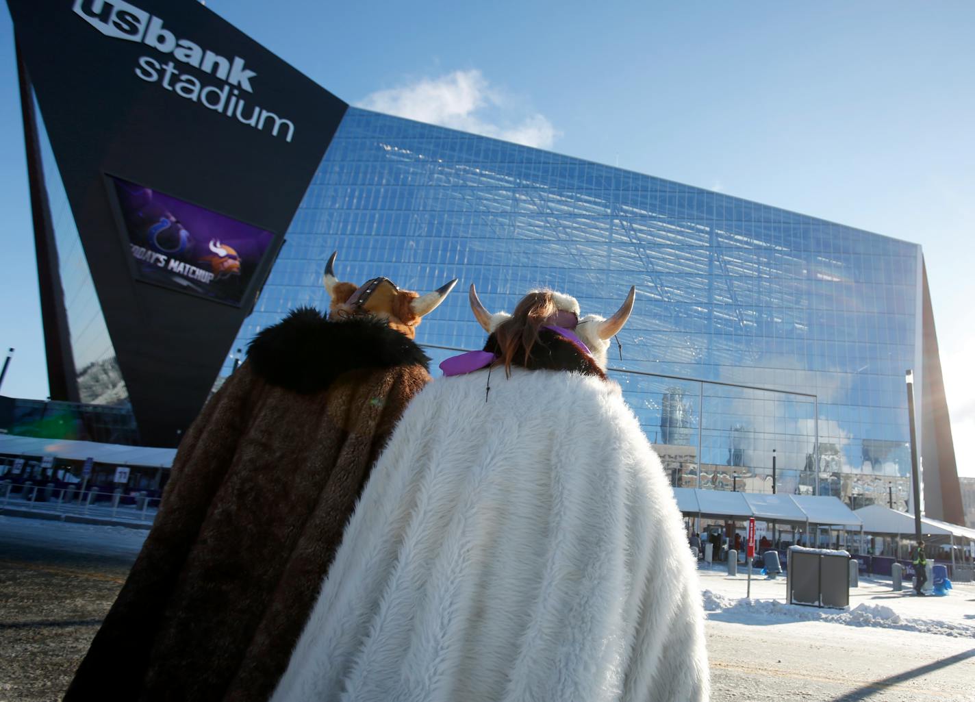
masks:
<instances>
[{"instance_id":1,"label":"flat-topped white tent canopy just right of the white fur cape","mask_svg":"<svg viewBox=\"0 0 975 702\"><path fill-rule=\"evenodd\" d=\"M838 498L826 495L773 495L760 492L705 490L695 487L673 489L678 507L684 515L735 520L754 517L764 522L853 526L857 530L862 526L860 518L852 510Z\"/></svg>"}]
</instances>

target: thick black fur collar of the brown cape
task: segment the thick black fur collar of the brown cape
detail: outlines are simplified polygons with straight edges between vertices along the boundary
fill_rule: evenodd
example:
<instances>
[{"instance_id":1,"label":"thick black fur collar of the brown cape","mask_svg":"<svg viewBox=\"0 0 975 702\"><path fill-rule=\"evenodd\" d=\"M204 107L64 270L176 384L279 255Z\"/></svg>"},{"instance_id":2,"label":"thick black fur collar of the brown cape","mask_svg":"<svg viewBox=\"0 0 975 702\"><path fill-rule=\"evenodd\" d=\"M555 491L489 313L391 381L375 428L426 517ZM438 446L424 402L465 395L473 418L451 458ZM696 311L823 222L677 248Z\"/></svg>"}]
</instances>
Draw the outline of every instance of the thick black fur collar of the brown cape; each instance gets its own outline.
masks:
<instances>
[{"instance_id":1,"label":"thick black fur collar of the brown cape","mask_svg":"<svg viewBox=\"0 0 975 702\"><path fill-rule=\"evenodd\" d=\"M270 383L308 394L344 372L415 364L429 368L422 349L381 320L353 317L330 322L313 307L299 307L258 333L248 347L254 370Z\"/></svg>"}]
</instances>

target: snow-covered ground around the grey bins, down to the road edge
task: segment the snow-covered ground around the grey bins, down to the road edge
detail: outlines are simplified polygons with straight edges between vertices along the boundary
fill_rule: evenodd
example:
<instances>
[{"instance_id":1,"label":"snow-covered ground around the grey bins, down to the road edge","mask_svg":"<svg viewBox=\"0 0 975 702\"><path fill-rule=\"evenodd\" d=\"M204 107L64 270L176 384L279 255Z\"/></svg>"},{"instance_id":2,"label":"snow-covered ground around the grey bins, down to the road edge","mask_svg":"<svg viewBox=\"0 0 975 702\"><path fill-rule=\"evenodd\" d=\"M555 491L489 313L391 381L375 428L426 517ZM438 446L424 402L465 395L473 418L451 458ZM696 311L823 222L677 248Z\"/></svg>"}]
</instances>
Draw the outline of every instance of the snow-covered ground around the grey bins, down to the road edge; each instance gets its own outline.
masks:
<instances>
[{"instance_id":1,"label":"snow-covered ground around the grey bins, down to the road edge","mask_svg":"<svg viewBox=\"0 0 975 702\"><path fill-rule=\"evenodd\" d=\"M749 600L745 574L729 576L725 565L716 564L700 568L698 575L711 620L739 624L818 621L975 639L975 585L971 583L955 584L946 597L918 598L907 581L903 592L894 592L889 579L861 577L860 586L850 588L850 606L831 609L786 604L785 577L770 580L753 574Z\"/></svg>"}]
</instances>

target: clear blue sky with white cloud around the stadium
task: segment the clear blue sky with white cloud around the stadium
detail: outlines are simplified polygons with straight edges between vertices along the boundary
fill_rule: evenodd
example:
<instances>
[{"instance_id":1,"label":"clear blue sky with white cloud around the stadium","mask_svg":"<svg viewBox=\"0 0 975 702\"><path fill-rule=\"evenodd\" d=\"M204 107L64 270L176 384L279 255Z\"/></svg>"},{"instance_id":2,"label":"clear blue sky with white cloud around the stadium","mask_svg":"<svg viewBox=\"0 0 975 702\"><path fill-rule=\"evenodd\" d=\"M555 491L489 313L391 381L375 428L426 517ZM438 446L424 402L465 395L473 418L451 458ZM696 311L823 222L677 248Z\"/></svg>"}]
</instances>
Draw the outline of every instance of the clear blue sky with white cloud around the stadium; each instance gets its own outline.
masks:
<instances>
[{"instance_id":1,"label":"clear blue sky with white cloud around the stadium","mask_svg":"<svg viewBox=\"0 0 975 702\"><path fill-rule=\"evenodd\" d=\"M347 101L921 244L975 476L975 3L208 0ZM0 13L4 394L47 381Z\"/></svg>"}]
</instances>

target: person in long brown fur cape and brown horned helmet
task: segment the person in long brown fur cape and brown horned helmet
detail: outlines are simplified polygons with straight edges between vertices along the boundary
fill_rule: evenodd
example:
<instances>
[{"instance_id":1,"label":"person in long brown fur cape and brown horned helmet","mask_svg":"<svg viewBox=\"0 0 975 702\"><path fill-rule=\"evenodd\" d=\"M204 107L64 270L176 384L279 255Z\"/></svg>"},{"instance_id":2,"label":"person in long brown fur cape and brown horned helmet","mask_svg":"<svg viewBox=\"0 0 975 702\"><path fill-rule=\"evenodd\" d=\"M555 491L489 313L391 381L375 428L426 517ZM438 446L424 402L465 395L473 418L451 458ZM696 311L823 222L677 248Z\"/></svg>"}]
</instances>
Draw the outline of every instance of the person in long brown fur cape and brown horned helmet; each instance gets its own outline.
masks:
<instances>
[{"instance_id":1,"label":"person in long brown fur cape and brown horned helmet","mask_svg":"<svg viewBox=\"0 0 975 702\"><path fill-rule=\"evenodd\" d=\"M357 288L326 266L302 308L251 342L176 453L159 514L66 702L262 702L288 665L342 529L429 380L413 342L436 292Z\"/></svg>"}]
</instances>

